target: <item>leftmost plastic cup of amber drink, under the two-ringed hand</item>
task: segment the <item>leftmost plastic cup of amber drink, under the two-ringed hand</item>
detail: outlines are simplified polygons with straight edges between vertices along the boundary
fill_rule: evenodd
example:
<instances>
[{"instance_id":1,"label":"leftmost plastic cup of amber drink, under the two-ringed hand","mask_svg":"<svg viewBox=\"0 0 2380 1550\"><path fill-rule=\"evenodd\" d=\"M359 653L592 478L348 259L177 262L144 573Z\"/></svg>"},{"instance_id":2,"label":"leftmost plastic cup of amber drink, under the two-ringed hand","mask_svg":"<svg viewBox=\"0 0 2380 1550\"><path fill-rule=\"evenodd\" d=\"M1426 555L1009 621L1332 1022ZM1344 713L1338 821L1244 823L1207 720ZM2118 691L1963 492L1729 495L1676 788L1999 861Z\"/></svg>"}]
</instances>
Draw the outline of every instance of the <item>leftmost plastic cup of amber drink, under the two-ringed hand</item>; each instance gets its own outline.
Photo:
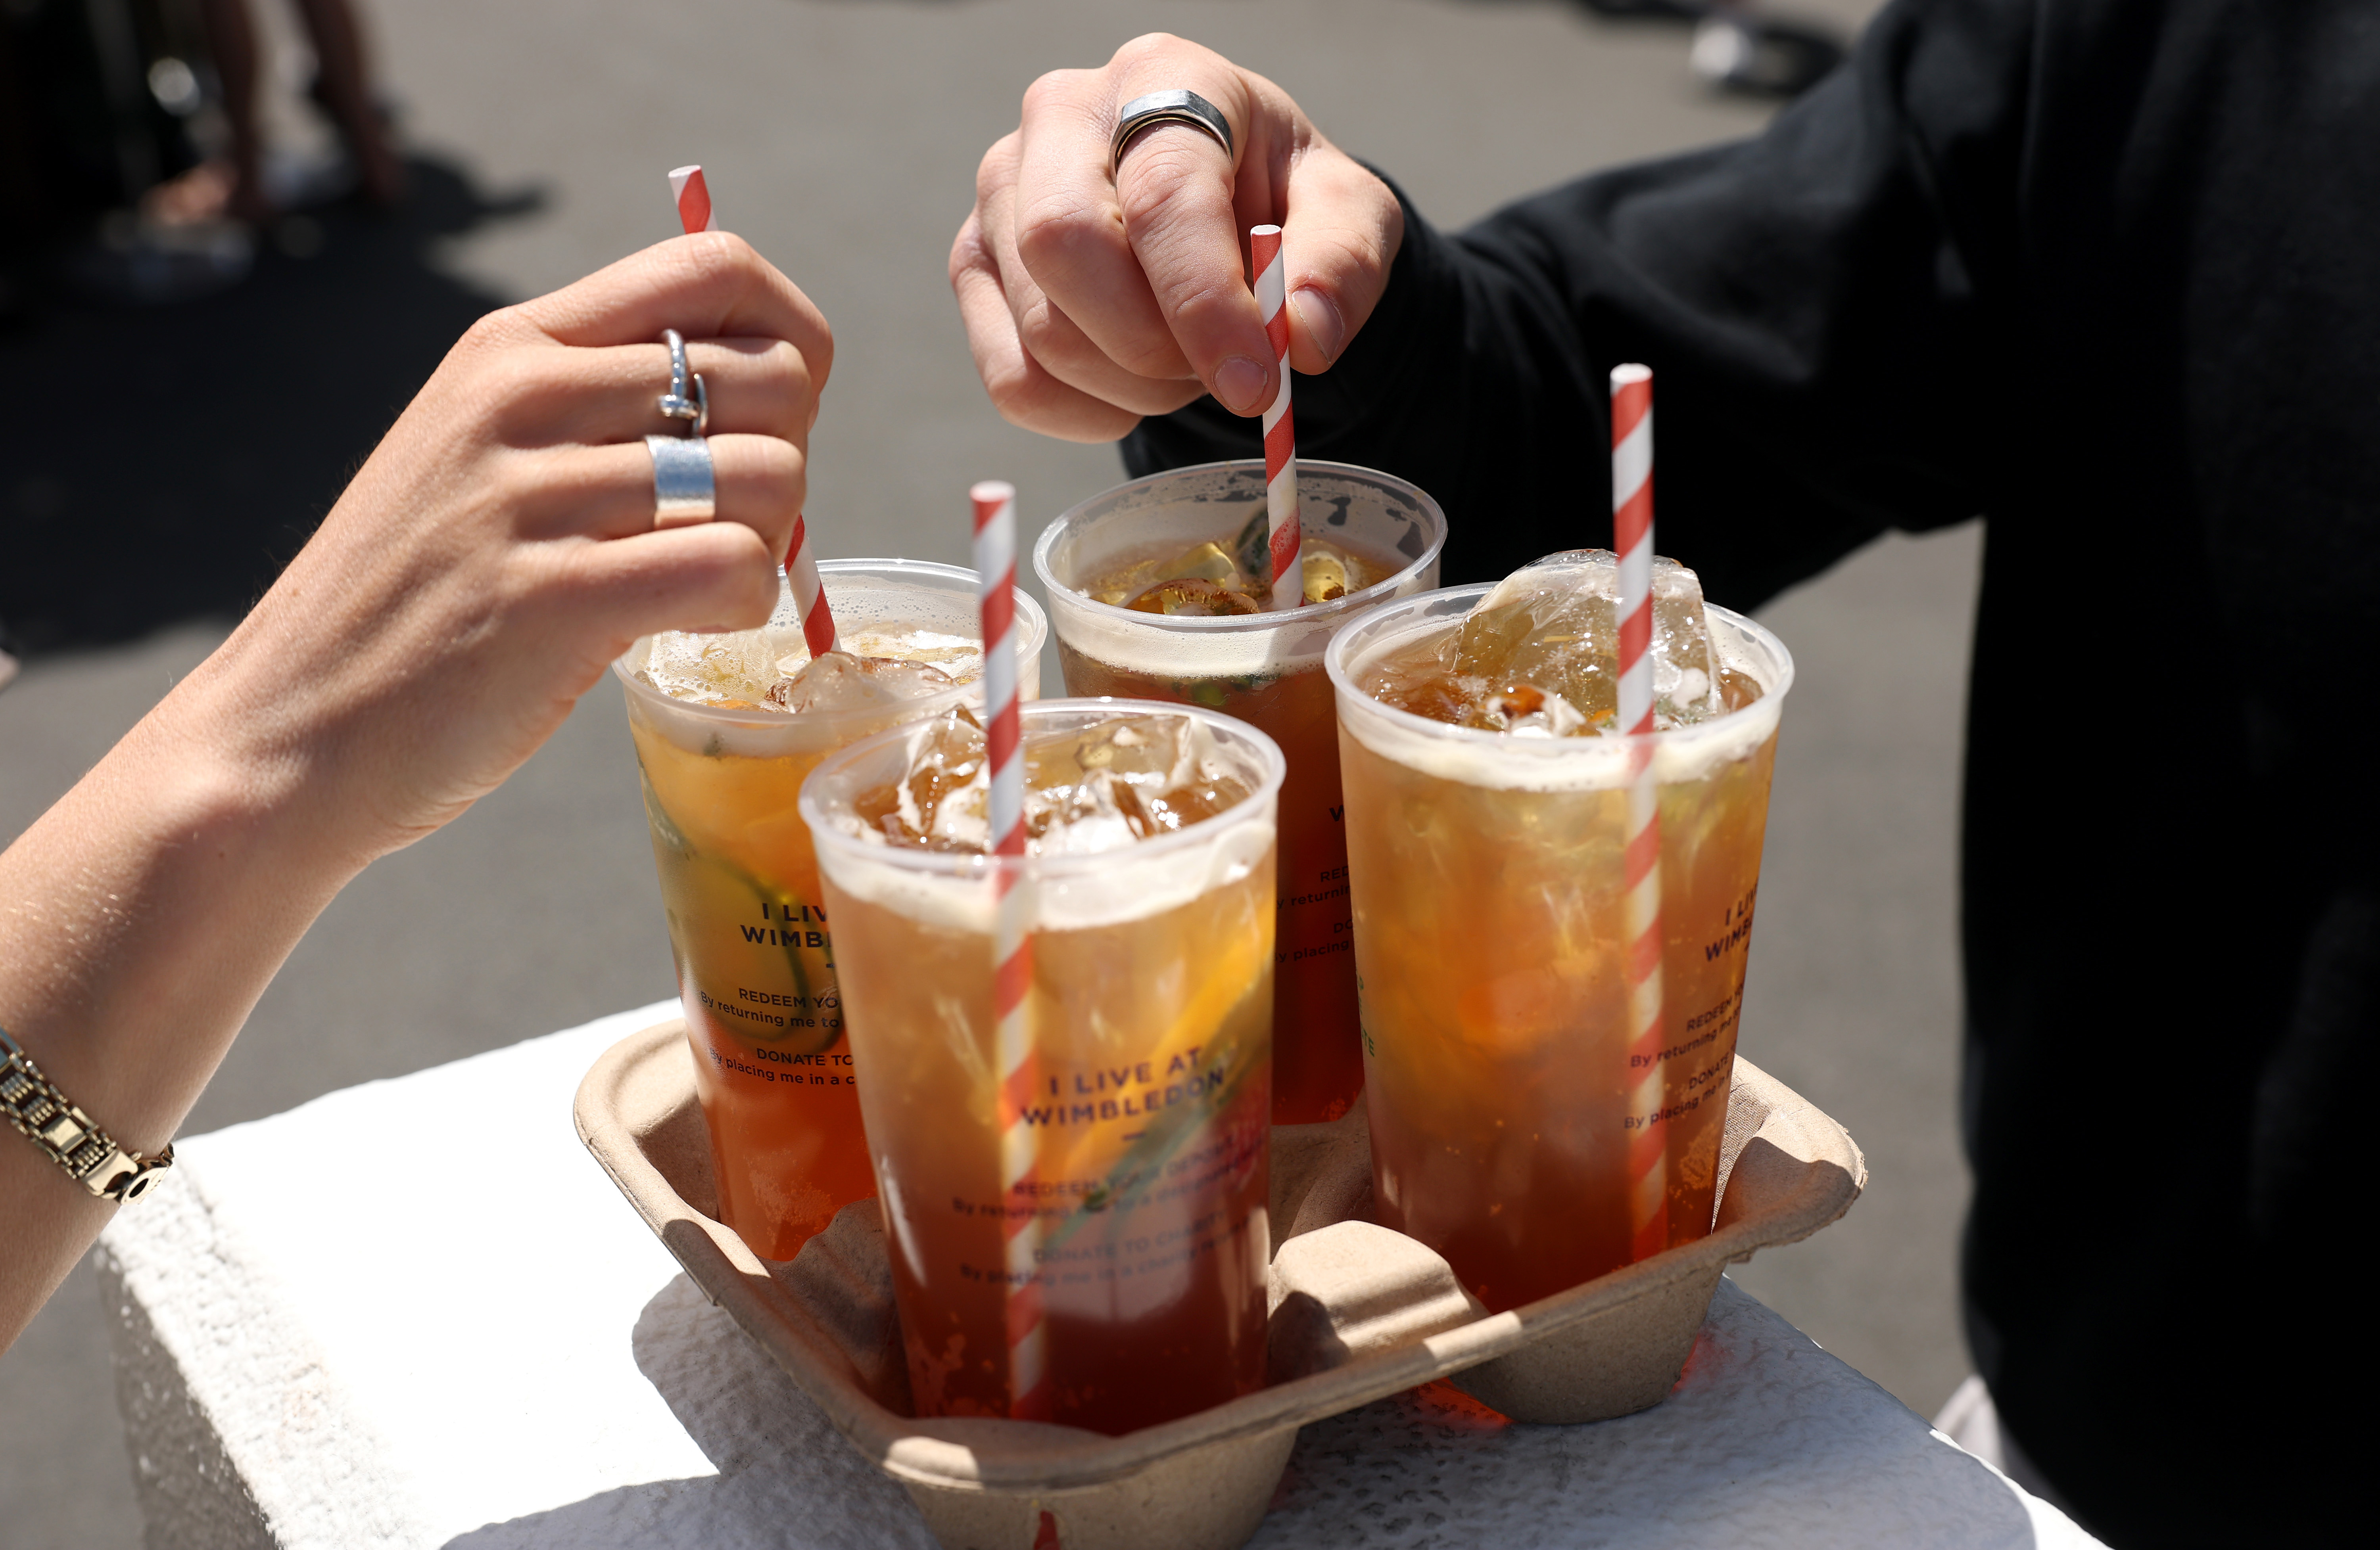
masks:
<instances>
[{"instance_id":1,"label":"leftmost plastic cup of amber drink, under the two-ringed hand","mask_svg":"<svg viewBox=\"0 0 2380 1550\"><path fill-rule=\"evenodd\" d=\"M847 647L883 625L981 639L973 571L843 559L819 575ZM1050 623L1023 592L1016 625L1016 670L1031 692ZM785 635L785 651L800 649L790 587L781 585L766 628ZM752 1253L790 1260L838 1210L876 1193L843 1039L835 941L795 808L802 777L862 737L962 701L981 706L983 685L864 711L733 711L640 682L650 654L652 639L638 639L612 670L628 689L719 1220Z\"/></svg>"}]
</instances>

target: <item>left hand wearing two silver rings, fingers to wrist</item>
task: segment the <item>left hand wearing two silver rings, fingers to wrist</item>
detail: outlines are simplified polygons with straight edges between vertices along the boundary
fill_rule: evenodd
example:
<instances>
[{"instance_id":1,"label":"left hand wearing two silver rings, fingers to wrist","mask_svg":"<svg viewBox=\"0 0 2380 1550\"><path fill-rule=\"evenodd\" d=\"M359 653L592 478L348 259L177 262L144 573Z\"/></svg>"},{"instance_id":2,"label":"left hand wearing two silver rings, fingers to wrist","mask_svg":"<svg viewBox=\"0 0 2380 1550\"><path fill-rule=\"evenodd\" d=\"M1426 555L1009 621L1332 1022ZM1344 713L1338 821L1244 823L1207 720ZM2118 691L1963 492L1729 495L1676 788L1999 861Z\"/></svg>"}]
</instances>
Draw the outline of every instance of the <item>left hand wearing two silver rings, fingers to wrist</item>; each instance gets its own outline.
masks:
<instances>
[{"instance_id":1,"label":"left hand wearing two silver rings, fingers to wrist","mask_svg":"<svg viewBox=\"0 0 2380 1550\"><path fill-rule=\"evenodd\" d=\"M709 385L716 521L654 530L664 328ZM831 361L819 309L724 233L481 319L162 711L347 868L419 839L638 635L766 620Z\"/></svg>"}]
</instances>

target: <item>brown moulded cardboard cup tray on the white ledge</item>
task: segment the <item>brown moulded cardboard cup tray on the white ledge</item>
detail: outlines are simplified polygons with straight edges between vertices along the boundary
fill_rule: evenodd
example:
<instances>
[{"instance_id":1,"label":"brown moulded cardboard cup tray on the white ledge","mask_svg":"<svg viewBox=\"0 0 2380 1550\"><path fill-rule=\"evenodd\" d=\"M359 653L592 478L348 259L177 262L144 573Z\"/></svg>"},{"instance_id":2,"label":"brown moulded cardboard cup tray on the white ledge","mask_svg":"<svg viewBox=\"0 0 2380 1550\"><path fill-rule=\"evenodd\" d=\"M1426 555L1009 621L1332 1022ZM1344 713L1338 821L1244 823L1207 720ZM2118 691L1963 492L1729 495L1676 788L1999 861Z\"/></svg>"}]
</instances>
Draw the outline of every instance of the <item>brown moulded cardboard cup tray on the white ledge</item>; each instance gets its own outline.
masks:
<instances>
[{"instance_id":1,"label":"brown moulded cardboard cup tray on the white ledge","mask_svg":"<svg viewBox=\"0 0 2380 1550\"><path fill-rule=\"evenodd\" d=\"M1711 1234L1488 1315L1442 1258L1368 1220L1361 1105L1333 1124L1273 1127L1266 1388L1102 1436L909 1414L873 1201L845 1208L793 1260L762 1260L712 1220L709 1139L681 1020L612 1046L581 1082L576 1117L685 1274L909 1491L950 1550L1033 1550L1052 1529L1066 1550L1228 1550L1264 1519L1299 1426L1435 1379L1516 1422L1599 1422L1659 1405L1718 1274L1818 1231L1868 1179L1840 1124L1737 1058Z\"/></svg>"}]
</instances>

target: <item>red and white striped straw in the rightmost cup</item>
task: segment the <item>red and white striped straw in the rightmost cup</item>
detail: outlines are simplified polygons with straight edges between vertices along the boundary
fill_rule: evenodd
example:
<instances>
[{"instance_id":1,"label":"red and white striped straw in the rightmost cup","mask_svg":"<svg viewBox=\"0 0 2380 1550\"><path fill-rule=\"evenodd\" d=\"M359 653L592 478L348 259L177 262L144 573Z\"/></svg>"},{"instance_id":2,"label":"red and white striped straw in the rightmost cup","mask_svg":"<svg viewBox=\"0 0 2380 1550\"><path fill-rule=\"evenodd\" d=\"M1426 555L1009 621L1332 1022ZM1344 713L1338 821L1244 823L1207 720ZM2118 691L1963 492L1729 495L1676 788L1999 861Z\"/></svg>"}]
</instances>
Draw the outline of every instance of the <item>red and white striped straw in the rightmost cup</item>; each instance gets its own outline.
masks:
<instances>
[{"instance_id":1,"label":"red and white striped straw in the rightmost cup","mask_svg":"<svg viewBox=\"0 0 2380 1550\"><path fill-rule=\"evenodd\" d=\"M1628 735L1628 1222L1633 1260L1668 1248L1661 1117L1661 787L1652 770L1652 371L1611 368L1611 547L1621 556L1621 730Z\"/></svg>"}]
</instances>

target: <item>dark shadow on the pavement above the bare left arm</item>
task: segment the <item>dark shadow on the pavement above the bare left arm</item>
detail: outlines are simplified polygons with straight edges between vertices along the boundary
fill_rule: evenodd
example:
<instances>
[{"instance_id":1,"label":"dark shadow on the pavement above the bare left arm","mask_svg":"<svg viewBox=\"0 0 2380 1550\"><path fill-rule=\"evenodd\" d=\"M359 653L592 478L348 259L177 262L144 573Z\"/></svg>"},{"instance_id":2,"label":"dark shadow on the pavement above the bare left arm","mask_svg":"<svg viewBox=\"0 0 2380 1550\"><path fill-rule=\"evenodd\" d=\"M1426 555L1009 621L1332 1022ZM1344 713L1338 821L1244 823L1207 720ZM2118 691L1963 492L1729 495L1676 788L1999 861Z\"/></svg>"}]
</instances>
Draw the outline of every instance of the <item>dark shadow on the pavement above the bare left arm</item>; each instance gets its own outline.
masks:
<instances>
[{"instance_id":1,"label":"dark shadow on the pavement above the bare left arm","mask_svg":"<svg viewBox=\"0 0 2380 1550\"><path fill-rule=\"evenodd\" d=\"M224 295L62 295L0 338L0 620L21 649L245 613L455 338L509 300L440 273L436 247L545 195L409 169L400 212L283 223Z\"/></svg>"}]
</instances>

